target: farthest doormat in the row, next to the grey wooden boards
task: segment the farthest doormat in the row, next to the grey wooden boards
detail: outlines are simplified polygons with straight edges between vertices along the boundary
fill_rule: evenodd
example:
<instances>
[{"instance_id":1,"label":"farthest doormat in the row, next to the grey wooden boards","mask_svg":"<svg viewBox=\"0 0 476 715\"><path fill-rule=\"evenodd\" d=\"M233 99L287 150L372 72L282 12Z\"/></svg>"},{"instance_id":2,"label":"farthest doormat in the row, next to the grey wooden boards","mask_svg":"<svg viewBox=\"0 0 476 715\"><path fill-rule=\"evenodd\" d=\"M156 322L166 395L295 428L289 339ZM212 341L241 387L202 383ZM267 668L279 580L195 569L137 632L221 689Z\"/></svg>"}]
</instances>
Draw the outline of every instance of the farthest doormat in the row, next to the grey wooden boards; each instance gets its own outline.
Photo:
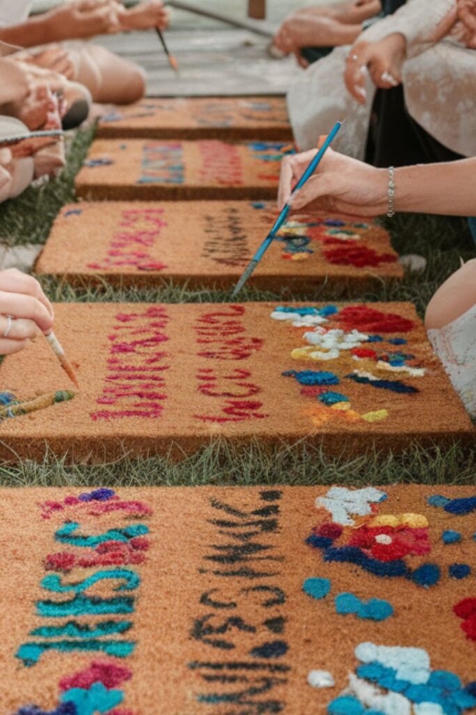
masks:
<instances>
[{"instance_id":1,"label":"farthest doormat in the row, next to the grey wooden boards","mask_svg":"<svg viewBox=\"0 0 476 715\"><path fill-rule=\"evenodd\" d=\"M146 97L99 120L103 139L293 139L285 97Z\"/></svg>"}]
</instances>

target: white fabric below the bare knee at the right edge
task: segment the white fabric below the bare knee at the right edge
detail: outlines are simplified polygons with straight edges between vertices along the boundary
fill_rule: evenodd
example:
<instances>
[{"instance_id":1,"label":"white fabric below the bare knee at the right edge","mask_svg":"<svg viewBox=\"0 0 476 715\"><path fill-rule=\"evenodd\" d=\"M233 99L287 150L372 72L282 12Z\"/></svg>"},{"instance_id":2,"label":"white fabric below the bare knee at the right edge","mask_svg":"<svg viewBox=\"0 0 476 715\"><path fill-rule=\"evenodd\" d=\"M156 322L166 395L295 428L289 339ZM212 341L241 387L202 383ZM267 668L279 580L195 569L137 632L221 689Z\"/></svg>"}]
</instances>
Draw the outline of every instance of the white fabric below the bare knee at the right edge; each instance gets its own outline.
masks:
<instances>
[{"instance_id":1,"label":"white fabric below the bare knee at the right edge","mask_svg":"<svg viewBox=\"0 0 476 715\"><path fill-rule=\"evenodd\" d=\"M476 417L476 305L448 325L428 330L428 337L468 413Z\"/></svg>"}]
</instances>

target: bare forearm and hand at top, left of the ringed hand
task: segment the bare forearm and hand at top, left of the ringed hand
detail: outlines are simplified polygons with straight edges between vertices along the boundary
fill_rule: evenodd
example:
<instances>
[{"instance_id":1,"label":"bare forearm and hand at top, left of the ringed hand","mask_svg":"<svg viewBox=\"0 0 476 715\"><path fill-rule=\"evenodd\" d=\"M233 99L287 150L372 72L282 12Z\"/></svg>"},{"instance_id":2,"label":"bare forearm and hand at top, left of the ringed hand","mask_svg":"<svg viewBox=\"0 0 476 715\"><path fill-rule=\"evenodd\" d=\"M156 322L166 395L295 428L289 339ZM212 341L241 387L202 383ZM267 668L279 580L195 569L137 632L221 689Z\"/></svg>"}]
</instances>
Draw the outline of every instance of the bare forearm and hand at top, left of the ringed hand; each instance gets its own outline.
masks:
<instances>
[{"instance_id":1,"label":"bare forearm and hand at top, left of the ringed hand","mask_svg":"<svg viewBox=\"0 0 476 715\"><path fill-rule=\"evenodd\" d=\"M273 47L294 54L298 64L310 63L329 54L333 47L352 44L368 20L382 10L380 0L354 0L334 5L304 7L291 13L273 39Z\"/></svg>"}]
</instances>

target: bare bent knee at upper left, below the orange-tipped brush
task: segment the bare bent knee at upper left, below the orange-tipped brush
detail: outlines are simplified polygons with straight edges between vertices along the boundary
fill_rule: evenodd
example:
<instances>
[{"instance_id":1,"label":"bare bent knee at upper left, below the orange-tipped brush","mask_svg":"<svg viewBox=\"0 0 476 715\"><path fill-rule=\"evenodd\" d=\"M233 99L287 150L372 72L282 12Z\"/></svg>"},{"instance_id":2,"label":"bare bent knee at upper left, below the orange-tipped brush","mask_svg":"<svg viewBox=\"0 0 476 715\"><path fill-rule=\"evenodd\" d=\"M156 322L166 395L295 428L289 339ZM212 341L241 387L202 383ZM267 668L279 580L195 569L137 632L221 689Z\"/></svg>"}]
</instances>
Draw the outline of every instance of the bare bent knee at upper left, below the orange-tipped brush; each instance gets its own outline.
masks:
<instances>
[{"instance_id":1,"label":"bare bent knee at upper left, below the orange-tipped brush","mask_svg":"<svg viewBox=\"0 0 476 715\"><path fill-rule=\"evenodd\" d=\"M98 45L72 50L77 66L76 81L84 84L100 104L132 104L146 92L143 69Z\"/></svg>"}]
</instances>

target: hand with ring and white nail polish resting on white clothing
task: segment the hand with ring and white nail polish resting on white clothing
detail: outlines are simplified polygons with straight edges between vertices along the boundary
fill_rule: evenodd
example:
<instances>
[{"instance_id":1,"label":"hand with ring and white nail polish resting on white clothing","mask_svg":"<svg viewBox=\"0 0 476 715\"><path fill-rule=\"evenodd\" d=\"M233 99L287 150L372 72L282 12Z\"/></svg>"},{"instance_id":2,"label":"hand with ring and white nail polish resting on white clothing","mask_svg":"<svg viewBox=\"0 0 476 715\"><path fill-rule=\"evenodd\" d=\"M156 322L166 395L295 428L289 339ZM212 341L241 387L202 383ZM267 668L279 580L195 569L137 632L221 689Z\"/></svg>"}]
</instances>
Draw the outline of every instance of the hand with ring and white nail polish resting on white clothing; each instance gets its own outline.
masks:
<instances>
[{"instance_id":1,"label":"hand with ring and white nail polish resting on white clothing","mask_svg":"<svg viewBox=\"0 0 476 715\"><path fill-rule=\"evenodd\" d=\"M350 94L365 104L365 75L368 71L375 87L391 89L402 82L402 66L407 41L399 32L379 42L358 42L350 50L344 71L344 82Z\"/></svg>"}]
</instances>

